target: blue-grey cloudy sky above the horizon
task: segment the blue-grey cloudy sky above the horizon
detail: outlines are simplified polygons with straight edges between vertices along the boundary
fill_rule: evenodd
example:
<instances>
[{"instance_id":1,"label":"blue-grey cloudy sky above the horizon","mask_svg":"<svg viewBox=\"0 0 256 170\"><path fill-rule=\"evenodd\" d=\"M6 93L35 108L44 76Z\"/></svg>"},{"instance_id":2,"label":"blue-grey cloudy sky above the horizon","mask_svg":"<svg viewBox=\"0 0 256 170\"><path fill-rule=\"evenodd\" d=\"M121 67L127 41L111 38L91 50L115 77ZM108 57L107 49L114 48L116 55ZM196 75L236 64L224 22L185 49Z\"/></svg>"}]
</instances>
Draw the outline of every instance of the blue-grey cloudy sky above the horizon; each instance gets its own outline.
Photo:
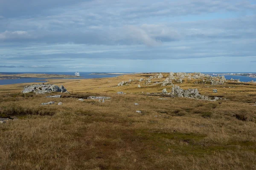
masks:
<instances>
[{"instance_id":1,"label":"blue-grey cloudy sky above the horizon","mask_svg":"<svg viewBox=\"0 0 256 170\"><path fill-rule=\"evenodd\" d=\"M0 0L0 72L256 72L256 0Z\"/></svg>"}]
</instances>

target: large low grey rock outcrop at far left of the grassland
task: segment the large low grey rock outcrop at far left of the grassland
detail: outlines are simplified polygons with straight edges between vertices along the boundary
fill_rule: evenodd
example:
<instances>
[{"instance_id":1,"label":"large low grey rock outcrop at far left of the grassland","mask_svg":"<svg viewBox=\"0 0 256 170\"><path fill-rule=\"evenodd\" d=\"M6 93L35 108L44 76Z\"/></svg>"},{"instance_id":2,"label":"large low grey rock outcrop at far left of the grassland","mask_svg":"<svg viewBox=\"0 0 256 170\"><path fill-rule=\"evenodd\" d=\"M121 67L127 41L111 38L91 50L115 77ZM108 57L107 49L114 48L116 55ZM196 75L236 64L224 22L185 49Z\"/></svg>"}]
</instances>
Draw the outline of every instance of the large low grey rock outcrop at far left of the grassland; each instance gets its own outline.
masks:
<instances>
[{"instance_id":1,"label":"large low grey rock outcrop at far left of the grassland","mask_svg":"<svg viewBox=\"0 0 256 170\"><path fill-rule=\"evenodd\" d=\"M63 85L61 85L61 87L59 88L57 85L53 85L53 84L39 84L39 85L30 85L30 86L26 86L24 87L23 91L21 91L21 93L37 93L37 94L44 94L44 93L51 93L51 92L67 92L67 89L64 88Z\"/></svg>"}]
</instances>

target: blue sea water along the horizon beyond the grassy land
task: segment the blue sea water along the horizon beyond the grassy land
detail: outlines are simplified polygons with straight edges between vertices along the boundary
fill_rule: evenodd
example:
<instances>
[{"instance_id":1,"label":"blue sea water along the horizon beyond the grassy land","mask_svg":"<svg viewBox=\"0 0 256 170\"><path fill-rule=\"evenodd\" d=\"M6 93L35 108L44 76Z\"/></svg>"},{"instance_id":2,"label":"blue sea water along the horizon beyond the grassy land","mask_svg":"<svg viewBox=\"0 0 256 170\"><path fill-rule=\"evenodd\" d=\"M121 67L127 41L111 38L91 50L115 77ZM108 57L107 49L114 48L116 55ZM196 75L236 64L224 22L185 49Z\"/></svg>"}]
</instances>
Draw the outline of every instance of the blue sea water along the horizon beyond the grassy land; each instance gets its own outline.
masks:
<instances>
[{"instance_id":1,"label":"blue sea water along the horizon beyond the grassy land","mask_svg":"<svg viewBox=\"0 0 256 170\"><path fill-rule=\"evenodd\" d=\"M75 75L74 72L0 72L0 74L62 74L62 75ZM124 73L127 74L127 73ZM245 77L245 76L233 76L233 75L225 75L227 73L202 73L202 74L218 74L218 75L224 75L226 79L240 79L241 82L250 82L250 81L255 81L256 78L252 77ZM111 73L95 73L95 72L80 72L79 77L75 78L67 78L67 79L95 79L95 78L106 78L106 77L116 77L122 75L120 74L111 74ZM213 75L214 76L214 75ZM45 80L46 78L20 78L20 79L3 79L0 80L0 85L10 85L10 84L17 84L17 83L39 83L39 82L47 82ZM56 79L56 78L47 78L47 79ZM58 79L66 79L66 78L58 78Z\"/></svg>"}]
</instances>

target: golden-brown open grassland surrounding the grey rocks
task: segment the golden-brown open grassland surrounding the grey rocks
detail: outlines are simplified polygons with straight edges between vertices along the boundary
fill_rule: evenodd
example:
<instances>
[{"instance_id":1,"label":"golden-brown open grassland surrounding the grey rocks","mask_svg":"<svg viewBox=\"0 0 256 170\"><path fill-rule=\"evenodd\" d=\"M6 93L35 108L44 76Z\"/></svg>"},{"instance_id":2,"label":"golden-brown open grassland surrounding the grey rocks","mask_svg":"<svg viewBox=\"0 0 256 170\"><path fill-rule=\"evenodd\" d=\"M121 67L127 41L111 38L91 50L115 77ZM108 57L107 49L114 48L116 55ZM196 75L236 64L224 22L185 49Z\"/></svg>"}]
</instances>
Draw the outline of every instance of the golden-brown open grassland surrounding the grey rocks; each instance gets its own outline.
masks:
<instances>
[{"instance_id":1,"label":"golden-brown open grassland surrounding the grey rocks","mask_svg":"<svg viewBox=\"0 0 256 170\"><path fill-rule=\"evenodd\" d=\"M50 80L70 91L55 99L21 94L28 84L1 85L0 114L19 119L0 124L0 169L256 169L255 84L175 83L222 98L209 102L152 94L171 86L138 82L149 76ZM137 80L116 87L128 79ZM63 105L41 105L49 101Z\"/></svg>"}]
</instances>

